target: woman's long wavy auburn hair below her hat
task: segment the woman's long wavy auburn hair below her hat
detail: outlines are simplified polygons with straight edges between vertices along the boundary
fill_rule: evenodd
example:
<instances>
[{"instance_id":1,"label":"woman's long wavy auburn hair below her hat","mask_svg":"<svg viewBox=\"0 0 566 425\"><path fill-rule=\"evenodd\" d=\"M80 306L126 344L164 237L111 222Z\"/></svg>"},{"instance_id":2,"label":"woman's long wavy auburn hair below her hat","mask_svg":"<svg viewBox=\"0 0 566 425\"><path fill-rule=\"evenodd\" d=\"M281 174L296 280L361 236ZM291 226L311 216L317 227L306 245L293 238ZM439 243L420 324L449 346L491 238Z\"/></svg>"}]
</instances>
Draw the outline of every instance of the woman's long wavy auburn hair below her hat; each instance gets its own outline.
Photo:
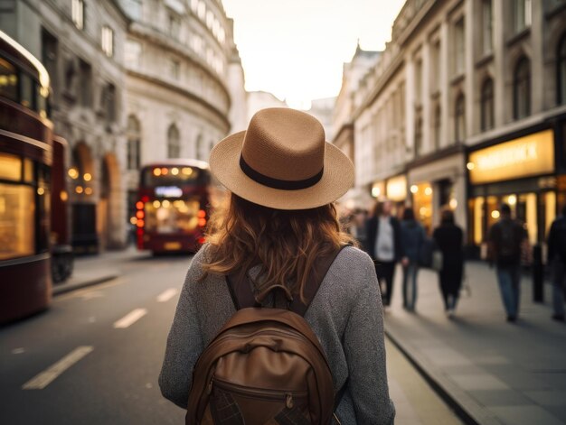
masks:
<instances>
[{"instance_id":1,"label":"woman's long wavy auburn hair below her hat","mask_svg":"<svg viewBox=\"0 0 566 425\"><path fill-rule=\"evenodd\" d=\"M259 264L259 290L285 285L302 300L309 272L320 255L353 244L333 204L301 210L262 207L231 194L214 211L207 241L205 275L246 273Z\"/></svg>"}]
</instances>

